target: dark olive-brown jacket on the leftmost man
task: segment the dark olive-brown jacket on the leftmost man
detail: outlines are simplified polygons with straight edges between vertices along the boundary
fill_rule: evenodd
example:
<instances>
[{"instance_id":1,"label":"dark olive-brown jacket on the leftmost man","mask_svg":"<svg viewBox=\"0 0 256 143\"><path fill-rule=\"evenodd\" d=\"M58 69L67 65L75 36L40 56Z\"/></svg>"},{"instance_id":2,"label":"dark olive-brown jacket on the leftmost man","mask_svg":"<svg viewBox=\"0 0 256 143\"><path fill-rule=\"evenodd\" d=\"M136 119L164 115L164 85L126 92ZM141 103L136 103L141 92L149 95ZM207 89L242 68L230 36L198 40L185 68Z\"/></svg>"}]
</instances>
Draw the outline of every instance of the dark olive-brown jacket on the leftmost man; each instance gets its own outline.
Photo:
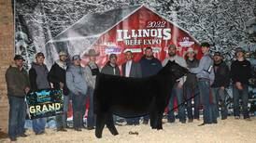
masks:
<instances>
[{"instance_id":1,"label":"dark olive-brown jacket on the leftmost man","mask_svg":"<svg viewBox=\"0 0 256 143\"><path fill-rule=\"evenodd\" d=\"M7 96L25 97L25 87L29 87L27 72L16 65L10 65L6 72Z\"/></svg>"}]
</instances>

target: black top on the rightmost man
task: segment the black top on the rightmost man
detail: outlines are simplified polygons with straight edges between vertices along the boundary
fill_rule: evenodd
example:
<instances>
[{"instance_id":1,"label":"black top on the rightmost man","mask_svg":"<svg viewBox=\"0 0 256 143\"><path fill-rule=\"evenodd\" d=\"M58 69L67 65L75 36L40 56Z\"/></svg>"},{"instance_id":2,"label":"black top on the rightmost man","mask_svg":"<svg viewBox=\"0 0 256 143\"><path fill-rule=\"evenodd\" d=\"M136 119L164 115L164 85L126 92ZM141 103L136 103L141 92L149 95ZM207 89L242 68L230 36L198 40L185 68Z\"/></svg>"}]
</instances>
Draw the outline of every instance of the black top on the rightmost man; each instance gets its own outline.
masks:
<instances>
[{"instance_id":1,"label":"black top on the rightmost man","mask_svg":"<svg viewBox=\"0 0 256 143\"><path fill-rule=\"evenodd\" d=\"M231 77L234 84L236 82L249 84L249 78L251 77L251 67L249 60L235 60L231 64Z\"/></svg>"}]
</instances>

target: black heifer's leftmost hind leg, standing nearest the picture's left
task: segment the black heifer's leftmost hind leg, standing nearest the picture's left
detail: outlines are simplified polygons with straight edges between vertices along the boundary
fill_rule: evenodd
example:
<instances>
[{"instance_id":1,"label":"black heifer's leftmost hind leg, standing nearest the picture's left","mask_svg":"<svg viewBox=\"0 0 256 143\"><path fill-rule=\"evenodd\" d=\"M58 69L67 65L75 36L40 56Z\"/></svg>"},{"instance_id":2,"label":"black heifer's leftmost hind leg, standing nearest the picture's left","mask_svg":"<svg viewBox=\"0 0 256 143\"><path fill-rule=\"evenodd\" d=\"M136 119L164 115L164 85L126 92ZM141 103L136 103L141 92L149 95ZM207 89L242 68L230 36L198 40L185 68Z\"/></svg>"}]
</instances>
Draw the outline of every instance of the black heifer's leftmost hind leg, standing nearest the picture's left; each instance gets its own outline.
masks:
<instances>
[{"instance_id":1,"label":"black heifer's leftmost hind leg, standing nearest the picture's left","mask_svg":"<svg viewBox=\"0 0 256 143\"><path fill-rule=\"evenodd\" d=\"M105 113L97 113L96 114L96 129L95 129L95 136L98 138L102 137L102 131L104 125L106 123L106 114Z\"/></svg>"}]
</instances>

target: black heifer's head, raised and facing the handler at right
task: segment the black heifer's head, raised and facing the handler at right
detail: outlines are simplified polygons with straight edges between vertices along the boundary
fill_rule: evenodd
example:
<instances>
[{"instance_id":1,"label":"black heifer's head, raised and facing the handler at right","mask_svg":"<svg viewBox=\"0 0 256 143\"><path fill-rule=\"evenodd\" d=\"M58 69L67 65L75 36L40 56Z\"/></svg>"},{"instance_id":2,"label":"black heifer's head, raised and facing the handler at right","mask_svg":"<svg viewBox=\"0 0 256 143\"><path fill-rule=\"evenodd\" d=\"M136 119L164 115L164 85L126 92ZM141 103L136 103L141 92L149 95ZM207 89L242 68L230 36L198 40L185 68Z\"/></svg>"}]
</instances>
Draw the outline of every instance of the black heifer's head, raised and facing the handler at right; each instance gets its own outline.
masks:
<instances>
[{"instance_id":1,"label":"black heifer's head, raised and facing the handler at right","mask_svg":"<svg viewBox=\"0 0 256 143\"><path fill-rule=\"evenodd\" d=\"M188 72L188 69L179 66L175 61L169 60L159 74L171 74L173 75L172 77L177 80Z\"/></svg>"}]
</instances>

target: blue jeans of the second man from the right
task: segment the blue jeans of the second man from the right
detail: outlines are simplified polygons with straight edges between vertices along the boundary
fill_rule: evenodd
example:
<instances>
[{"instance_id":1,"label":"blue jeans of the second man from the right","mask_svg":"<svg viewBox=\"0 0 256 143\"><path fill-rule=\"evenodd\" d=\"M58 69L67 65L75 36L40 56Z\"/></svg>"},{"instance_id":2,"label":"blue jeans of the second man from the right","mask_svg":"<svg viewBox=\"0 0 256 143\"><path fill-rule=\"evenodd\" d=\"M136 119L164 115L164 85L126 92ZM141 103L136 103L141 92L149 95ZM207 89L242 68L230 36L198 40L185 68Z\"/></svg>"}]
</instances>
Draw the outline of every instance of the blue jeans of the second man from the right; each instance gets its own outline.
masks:
<instances>
[{"instance_id":1,"label":"blue jeans of the second man from the right","mask_svg":"<svg viewBox=\"0 0 256 143\"><path fill-rule=\"evenodd\" d=\"M219 117L219 101L220 101L220 114L221 114L221 119L226 119L228 116L228 110L226 106L226 94L225 90L220 89L220 87L212 88L212 94L213 97L216 97L216 113L217 117Z\"/></svg>"}]
</instances>

